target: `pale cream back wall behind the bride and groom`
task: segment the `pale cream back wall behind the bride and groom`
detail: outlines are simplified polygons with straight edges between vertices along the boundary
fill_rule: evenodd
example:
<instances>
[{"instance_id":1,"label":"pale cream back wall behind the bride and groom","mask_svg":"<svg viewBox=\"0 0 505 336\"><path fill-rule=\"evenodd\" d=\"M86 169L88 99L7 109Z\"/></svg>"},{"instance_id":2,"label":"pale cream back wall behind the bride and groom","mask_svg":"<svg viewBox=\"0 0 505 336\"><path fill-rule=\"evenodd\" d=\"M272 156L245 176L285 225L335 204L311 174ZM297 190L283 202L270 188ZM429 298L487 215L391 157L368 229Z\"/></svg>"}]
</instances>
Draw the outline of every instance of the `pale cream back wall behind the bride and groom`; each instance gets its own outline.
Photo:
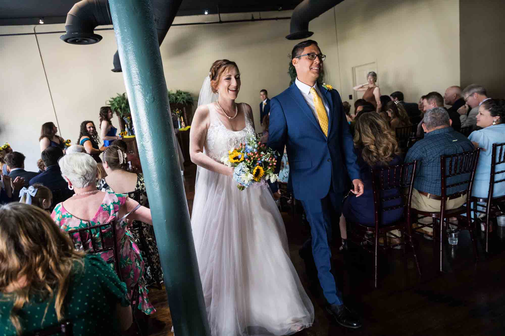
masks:
<instances>
[{"instance_id":1,"label":"pale cream back wall behind the bride and groom","mask_svg":"<svg viewBox=\"0 0 505 336\"><path fill-rule=\"evenodd\" d=\"M409 101L459 84L458 11L459 0L344 1L309 25L312 38L328 56L325 82L348 100L352 67L376 61L382 92L402 90ZM223 15L222 19L250 19L250 15ZM290 12L261 15L290 16ZM215 19L178 17L175 23ZM64 25L36 29L58 31L64 30ZM289 20L174 26L161 46L167 86L197 97L212 62L234 60L242 78L239 100L252 106L260 129L259 90L265 88L273 97L289 83L287 55L297 41L285 39L288 31ZM22 32L33 32L33 26L0 27L0 34ZM25 153L27 169L36 169L42 123L56 122L57 117L61 135L75 142L80 123L92 120L97 124L99 107L125 91L122 75L110 71L116 51L114 32L98 33L103 40L88 46L64 43L59 39L61 33L37 35L56 116L35 37L0 36L0 73L4 75L0 83L4 100L0 105L0 142L9 141L15 150ZM113 124L118 126L117 119Z\"/></svg>"}]
</instances>

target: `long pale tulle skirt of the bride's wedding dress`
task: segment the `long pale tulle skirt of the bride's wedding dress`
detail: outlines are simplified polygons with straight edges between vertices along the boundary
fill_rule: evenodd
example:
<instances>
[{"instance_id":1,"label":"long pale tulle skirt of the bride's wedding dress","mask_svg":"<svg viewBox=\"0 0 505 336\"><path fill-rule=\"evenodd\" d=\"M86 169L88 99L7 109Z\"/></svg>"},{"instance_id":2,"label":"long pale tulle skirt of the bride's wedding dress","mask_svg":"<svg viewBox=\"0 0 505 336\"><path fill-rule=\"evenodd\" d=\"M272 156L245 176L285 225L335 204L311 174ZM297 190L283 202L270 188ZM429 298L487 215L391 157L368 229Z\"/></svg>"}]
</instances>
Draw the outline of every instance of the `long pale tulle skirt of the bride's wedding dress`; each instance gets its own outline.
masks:
<instances>
[{"instance_id":1,"label":"long pale tulle skirt of the bride's wedding dress","mask_svg":"<svg viewBox=\"0 0 505 336\"><path fill-rule=\"evenodd\" d=\"M198 168L191 227L212 335L289 335L311 326L314 307L269 190L236 186Z\"/></svg>"}]
</instances>

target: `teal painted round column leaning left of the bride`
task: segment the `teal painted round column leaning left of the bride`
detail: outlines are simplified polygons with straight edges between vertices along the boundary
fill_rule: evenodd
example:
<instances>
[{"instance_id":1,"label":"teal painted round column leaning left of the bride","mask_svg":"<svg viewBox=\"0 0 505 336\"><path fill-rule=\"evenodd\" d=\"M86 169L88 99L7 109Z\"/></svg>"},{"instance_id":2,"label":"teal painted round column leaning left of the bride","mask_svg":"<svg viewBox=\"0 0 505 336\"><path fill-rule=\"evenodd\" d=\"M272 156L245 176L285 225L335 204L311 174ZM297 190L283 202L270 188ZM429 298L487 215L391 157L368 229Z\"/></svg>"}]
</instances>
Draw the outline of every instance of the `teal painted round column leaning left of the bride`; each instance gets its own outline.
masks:
<instances>
[{"instance_id":1,"label":"teal painted round column leaning left of the bride","mask_svg":"<svg viewBox=\"0 0 505 336\"><path fill-rule=\"evenodd\" d=\"M149 0L109 5L175 333L210 335L153 8Z\"/></svg>"}]
</instances>

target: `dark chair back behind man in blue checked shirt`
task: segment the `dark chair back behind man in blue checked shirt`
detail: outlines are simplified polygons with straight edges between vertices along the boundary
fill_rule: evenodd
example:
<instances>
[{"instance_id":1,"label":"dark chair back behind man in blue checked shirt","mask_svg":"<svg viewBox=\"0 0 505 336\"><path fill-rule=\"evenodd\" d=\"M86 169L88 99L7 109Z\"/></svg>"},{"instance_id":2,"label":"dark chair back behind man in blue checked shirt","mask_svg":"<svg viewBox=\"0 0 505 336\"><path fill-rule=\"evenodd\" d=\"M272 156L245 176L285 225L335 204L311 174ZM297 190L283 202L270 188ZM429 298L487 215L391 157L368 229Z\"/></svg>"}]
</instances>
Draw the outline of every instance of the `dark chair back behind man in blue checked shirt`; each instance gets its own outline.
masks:
<instances>
[{"instance_id":1,"label":"dark chair back behind man in blue checked shirt","mask_svg":"<svg viewBox=\"0 0 505 336\"><path fill-rule=\"evenodd\" d=\"M442 198L465 193L470 195L479 153L480 148L477 148L468 152L440 156ZM456 188L463 185L466 185L466 188Z\"/></svg>"}]
</instances>

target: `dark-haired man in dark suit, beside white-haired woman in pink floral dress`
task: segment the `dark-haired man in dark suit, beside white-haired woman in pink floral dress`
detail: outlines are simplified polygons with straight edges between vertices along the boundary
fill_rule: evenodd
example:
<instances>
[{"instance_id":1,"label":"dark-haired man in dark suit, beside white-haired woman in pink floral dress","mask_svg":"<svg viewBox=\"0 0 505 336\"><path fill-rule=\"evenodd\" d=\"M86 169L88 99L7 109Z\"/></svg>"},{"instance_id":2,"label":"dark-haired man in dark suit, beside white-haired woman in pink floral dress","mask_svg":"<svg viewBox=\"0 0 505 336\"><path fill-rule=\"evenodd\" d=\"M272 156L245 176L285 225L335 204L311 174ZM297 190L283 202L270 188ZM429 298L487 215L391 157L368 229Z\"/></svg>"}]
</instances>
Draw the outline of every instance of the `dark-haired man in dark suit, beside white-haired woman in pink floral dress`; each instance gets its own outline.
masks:
<instances>
[{"instance_id":1,"label":"dark-haired man in dark suit, beside white-haired woman in pink floral dress","mask_svg":"<svg viewBox=\"0 0 505 336\"><path fill-rule=\"evenodd\" d=\"M62 171L58 160L63 156L59 147L47 147L40 154L45 166L45 172L33 177L29 184L40 183L51 190L54 196L54 204L65 201L74 195L73 190L68 189L67 181L62 177ZM49 204L50 207L52 204Z\"/></svg>"}]
</instances>

